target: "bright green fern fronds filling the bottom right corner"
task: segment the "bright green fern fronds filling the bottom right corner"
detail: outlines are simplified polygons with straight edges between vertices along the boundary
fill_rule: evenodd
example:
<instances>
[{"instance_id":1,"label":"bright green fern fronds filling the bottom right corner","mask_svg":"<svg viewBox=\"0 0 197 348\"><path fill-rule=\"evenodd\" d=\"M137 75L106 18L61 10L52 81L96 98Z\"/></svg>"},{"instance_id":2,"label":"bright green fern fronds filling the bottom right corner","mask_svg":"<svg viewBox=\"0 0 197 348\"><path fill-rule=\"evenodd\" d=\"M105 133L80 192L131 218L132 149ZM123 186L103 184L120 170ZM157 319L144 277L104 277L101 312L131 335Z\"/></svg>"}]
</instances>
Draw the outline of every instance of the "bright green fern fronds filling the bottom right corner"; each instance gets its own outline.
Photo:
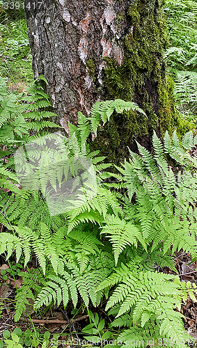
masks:
<instances>
[{"instance_id":1,"label":"bright green fern fronds filling the bottom right corner","mask_svg":"<svg viewBox=\"0 0 197 348\"><path fill-rule=\"evenodd\" d=\"M111 326L130 327L120 333L118 340L136 342L141 333L143 342L151 340L151 337L155 340L166 337L174 342L173 347L179 347L180 338L185 341L189 339L188 335L184 334L182 315L174 308L180 310L180 298L186 300L188 294L196 301L191 283L186 285L180 283L176 276L153 271L136 272L134 267L128 264L127 268L121 267L111 274L98 290L114 284L117 284L117 287L106 308L112 308L109 314L116 315ZM152 325L155 325L156 329Z\"/></svg>"}]
</instances>

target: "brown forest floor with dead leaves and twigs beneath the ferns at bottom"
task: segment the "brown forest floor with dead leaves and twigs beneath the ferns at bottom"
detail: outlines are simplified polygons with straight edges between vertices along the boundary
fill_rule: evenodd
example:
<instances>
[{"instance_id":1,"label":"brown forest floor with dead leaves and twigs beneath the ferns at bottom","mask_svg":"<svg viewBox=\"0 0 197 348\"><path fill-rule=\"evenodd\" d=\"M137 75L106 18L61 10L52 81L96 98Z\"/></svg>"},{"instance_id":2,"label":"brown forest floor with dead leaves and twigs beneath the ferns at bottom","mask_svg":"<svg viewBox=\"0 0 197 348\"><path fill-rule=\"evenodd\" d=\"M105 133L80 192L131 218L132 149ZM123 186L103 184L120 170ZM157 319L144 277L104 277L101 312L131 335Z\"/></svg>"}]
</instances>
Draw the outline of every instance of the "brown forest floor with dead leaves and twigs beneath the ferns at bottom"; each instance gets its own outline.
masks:
<instances>
[{"instance_id":1,"label":"brown forest floor with dead leaves and twigs beneath the ferns at bottom","mask_svg":"<svg viewBox=\"0 0 197 348\"><path fill-rule=\"evenodd\" d=\"M34 260L34 262L32 260L29 267L35 267L35 263L36 260ZM63 345L61 345L61 341L68 340L70 336L73 340L76 340L76 333L74 333L74 331L77 332L77 335L81 338L81 340L83 339L80 336L81 330L89 323L89 320L88 315L84 313L83 306L80 306L80 304L78 308L78 315L73 317L71 314L73 309L72 303L68 305L67 312L65 312L63 306L50 306L47 310L42 310L39 311L39 313L35 313L33 310L33 301L30 299L30 305L26 306L26 311L24 311L22 318L19 319L19 322L15 322L15 295L17 294L17 289L22 286L22 277L17 275L17 269L20 271L26 271L26 269L21 269L21 267L16 264L15 259L10 260L10 262L7 263L1 257L0 264L0 272L1 269L6 270L10 269L10 267L12 269L12 272L10 272L10 276L8 276L6 281L0 277L0 305L3 305L0 319L0 336L5 330L13 332L15 328L19 327L22 332L29 329L32 331L33 329L33 333L36 333L38 341L42 340L42 336L46 331L49 331L53 335L58 335L59 347L63 347ZM182 253L182 251L176 253L175 265L181 281L197 283L197 261L191 263L189 253ZM166 267L160 271L163 271L166 274L172 273L172 271ZM107 315L107 313L105 313L105 306L106 303L102 303L102 306L98 306L97 308L92 306L92 308L90 307L90 310L93 313L98 313L100 319L105 319L105 322L110 324L113 317L110 317ZM185 331L187 331L187 333L189 333L189 335L191 335L197 343L197 301L194 302L191 298L188 298L187 301L182 304L180 313L184 315ZM194 347L194 345L192 345L192 347Z\"/></svg>"}]
</instances>

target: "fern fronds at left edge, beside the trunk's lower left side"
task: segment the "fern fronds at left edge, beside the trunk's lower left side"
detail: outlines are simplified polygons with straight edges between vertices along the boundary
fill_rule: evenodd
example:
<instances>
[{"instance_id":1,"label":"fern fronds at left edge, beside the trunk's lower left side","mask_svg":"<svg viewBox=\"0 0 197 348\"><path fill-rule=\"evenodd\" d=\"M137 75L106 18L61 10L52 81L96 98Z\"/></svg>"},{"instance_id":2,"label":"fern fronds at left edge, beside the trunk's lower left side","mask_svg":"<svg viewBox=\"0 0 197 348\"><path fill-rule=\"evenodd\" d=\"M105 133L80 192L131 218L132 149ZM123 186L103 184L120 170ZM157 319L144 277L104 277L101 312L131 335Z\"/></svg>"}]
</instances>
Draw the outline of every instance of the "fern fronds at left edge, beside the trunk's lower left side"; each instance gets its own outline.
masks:
<instances>
[{"instance_id":1,"label":"fern fronds at left edge, beside the trunk's lower left side","mask_svg":"<svg viewBox=\"0 0 197 348\"><path fill-rule=\"evenodd\" d=\"M33 81L26 95L14 94L7 90L6 79L0 77L0 186L18 191L19 180L14 173L16 149L32 141L36 136L47 134L48 129L60 127L44 118L56 116L45 111L52 106L49 96L43 92L39 81ZM44 79L45 80L45 79Z\"/></svg>"}]
</instances>

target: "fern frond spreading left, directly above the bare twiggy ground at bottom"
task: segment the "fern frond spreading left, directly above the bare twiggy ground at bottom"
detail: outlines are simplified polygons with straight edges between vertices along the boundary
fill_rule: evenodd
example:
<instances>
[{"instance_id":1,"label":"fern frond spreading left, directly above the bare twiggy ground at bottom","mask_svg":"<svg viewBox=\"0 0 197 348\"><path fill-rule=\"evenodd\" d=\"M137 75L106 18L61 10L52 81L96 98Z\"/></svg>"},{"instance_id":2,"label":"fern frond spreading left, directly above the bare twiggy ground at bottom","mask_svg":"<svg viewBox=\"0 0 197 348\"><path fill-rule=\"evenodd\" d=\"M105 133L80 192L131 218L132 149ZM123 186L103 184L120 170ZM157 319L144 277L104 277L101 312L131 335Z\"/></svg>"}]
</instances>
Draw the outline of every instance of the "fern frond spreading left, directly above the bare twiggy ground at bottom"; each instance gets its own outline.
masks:
<instances>
[{"instance_id":1,"label":"fern frond spreading left, directly above the bare twiggy ground at bottom","mask_svg":"<svg viewBox=\"0 0 197 348\"><path fill-rule=\"evenodd\" d=\"M101 293L99 292L96 295L95 292L102 277L109 274L110 264L111 262L108 260L107 255L105 258L102 258L100 253L93 256L91 254L88 255L87 252L84 258L81 255L77 255L75 260L72 259L70 262L64 261L63 269L58 272L61 277L48 276L49 281L38 294L35 308L40 308L44 303L48 306L52 300L57 303L57 306L63 301L63 305L66 307L70 299L72 299L72 303L76 307L79 294L87 307L89 299L94 306L97 306L100 303Z\"/></svg>"}]
</instances>

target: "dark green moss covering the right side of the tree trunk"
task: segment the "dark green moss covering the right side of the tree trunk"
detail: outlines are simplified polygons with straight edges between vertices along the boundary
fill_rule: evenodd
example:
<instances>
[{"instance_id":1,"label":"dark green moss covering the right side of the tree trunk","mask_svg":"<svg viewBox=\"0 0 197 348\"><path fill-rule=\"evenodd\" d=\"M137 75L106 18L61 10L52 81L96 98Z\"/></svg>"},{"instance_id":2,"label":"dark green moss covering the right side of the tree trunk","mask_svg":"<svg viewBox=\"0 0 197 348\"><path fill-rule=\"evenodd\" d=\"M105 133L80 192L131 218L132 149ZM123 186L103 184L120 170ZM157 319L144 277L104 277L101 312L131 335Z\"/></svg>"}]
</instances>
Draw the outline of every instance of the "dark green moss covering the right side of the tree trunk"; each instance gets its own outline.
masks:
<instances>
[{"instance_id":1,"label":"dark green moss covering the right side of the tree trunk","mask_svg":"<svg viewBox=\"0 0 197 348\"><path fill-rule=\"evenodd\" d=\"M115 114L100 129L93 143L118 163L127 157L127 146L136 150L135 139L151 149L153 129L162 138L166 129L179 133L189 129L175 111L173 83L166 75L163 53L167 44L163 1L134 0L127 11L129 33L124 40L124 63L118 65L112 58L105 58L104 84L106 99L134 101L147 118L129 111Z\"/></svg>"}]
</instances>

